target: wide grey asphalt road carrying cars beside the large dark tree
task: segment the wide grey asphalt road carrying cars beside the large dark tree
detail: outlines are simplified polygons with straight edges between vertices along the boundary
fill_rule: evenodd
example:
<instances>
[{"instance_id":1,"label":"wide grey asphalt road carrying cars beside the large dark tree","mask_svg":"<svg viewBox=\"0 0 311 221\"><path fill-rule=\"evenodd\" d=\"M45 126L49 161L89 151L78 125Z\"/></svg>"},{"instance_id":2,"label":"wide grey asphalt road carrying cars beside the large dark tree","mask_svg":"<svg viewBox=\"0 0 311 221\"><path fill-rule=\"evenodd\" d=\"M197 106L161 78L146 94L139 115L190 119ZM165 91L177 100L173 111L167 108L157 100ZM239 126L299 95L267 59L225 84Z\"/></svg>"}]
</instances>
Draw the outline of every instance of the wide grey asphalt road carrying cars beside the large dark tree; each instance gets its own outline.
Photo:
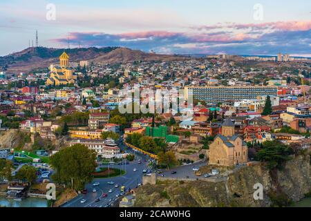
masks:
<instances>
[{"instance_id":1,"label":"wide grey asphalt road carrying cars beside the large dark tree","mask_svg":"<svg viewBox=\"0 0 311 221\"><path fill-rule=\"evenodd\" d=\"M125 149L124 144L120 144L122 149ZM120 195L121 186L125 186L126 189L134 189L139 183L142 183L142 171L147 169L147 156L137 153L131 149L126 149L128 153L135 154L135 161L130 162L129 164L123 165L110 165L111 168L122 169L126 171L124 175L118 177L104 178L104 179L94 179L91 184L86 185L88 191L87 194L79 194L73 200L70 200L62 207L105 207L107 204L113 202L117 199L116 195ZM138 160L141 160L141 164L138 164ZM102 166L105 167L105 166ZM137 171L134 171L136 169ZM99 182L99 186L93 186L93 183ZM114 182L114 184L108 184L108 182ZM115 184L118 184L119 187L115 188ZM93 193L93 189L96 189L96 192ZM112 189L113 192L109 193L109 190ZM108 194L106 198L102 198L103 193ZM100 198L100 202L95 202L97 198ZM81 200L86 200L85 203L81 203Z\"/></svg>"}]
</instances>

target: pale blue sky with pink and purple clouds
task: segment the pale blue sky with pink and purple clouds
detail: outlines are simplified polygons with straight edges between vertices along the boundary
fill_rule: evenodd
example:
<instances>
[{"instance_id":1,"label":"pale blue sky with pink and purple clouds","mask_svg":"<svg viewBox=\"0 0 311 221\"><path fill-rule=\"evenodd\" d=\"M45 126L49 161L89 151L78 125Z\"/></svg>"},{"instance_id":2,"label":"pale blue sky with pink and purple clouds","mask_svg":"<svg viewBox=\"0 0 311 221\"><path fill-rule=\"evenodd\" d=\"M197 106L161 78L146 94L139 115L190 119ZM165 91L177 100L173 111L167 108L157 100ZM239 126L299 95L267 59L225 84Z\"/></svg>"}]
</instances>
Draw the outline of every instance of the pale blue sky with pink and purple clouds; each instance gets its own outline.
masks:
<instances>
[{"instance_id":1,"label":"pale blue sky with pink and purple clouds","mask_svg":"<svg viewBox=\"0 0 311 221\"><path fill-rule=\"evenodd\" d=\"M311 57L310 0L0 0L0 56L35 44Z\"/></svg>"}]
</instances>

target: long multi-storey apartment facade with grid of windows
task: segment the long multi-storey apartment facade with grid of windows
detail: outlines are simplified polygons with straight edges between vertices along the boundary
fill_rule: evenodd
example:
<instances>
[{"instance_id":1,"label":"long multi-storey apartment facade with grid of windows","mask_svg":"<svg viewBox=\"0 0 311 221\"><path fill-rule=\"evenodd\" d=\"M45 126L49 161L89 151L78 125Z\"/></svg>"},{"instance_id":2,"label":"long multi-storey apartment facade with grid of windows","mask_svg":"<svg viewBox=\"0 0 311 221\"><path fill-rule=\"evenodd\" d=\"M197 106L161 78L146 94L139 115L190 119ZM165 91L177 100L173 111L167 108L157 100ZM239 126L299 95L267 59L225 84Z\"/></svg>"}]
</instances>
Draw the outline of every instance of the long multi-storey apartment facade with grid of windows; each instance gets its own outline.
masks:
<instances>
[{"instance_id":1,"label":"long multi-storey apartment facade with grid of windows","mask_svg":"<svg viewBox=\"0 0 311 221\"><path fill-rule=\"evenodd\" d=\"M189 96L204 100L207 103L237 101L241 99L256 99L261 95L277 96L276 86L191 86L185 87L185 99Z\"/></svg>"}]
</instances>

